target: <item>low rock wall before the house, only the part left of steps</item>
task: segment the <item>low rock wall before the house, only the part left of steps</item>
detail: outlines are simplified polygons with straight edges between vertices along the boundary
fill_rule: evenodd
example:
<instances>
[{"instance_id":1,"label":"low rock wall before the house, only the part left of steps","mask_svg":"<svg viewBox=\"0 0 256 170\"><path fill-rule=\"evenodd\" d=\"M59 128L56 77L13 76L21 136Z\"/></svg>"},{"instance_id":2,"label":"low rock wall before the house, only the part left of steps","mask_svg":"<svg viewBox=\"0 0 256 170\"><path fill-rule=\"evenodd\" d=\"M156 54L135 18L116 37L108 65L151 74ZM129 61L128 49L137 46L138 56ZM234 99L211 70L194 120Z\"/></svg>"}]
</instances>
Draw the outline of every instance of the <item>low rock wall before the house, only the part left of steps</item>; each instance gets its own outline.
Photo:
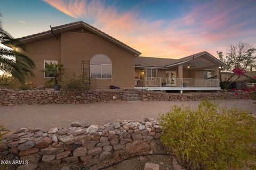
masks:
<instances>
[{"instance_id":1,"label":"low rock wall before the house, only the part left of steps","mask_svg":"<svg viewBox=\"0 0 256 170\"><path fill-rule=\"evenodd\" d=\"M124 90L89 90L79 94L54 90L0 89L0 105L81 104L122 100Z\"/></svg>"}]
</instances>

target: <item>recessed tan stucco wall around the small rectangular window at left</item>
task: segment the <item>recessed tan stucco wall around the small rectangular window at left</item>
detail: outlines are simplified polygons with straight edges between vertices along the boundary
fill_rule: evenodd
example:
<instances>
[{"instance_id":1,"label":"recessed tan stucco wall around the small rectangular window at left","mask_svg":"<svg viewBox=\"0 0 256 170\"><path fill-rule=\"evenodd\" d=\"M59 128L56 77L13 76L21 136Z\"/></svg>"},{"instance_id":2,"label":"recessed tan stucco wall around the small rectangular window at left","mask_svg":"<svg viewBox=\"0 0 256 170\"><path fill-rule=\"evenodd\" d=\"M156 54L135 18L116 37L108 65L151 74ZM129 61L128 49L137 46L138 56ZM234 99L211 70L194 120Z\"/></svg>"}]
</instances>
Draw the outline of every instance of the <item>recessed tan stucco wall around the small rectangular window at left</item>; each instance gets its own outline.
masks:
<instances>
[{"instance_id":1,"label":"recessed tan stucco wall around the small rectangular window at left","mask_svg":"<svg viewBox=\"0 0 256 170\"><path fill-rule=\"evenodd\" d=\"M47 78L44 78L44 61L53 60L60 63L60 36L58 40L55 37L41 39L32 43L27 43L28 56L35 62L35 77L27 77L26 82L33 82L34 86L44 84Z\"/></svg>"}]
</instances>

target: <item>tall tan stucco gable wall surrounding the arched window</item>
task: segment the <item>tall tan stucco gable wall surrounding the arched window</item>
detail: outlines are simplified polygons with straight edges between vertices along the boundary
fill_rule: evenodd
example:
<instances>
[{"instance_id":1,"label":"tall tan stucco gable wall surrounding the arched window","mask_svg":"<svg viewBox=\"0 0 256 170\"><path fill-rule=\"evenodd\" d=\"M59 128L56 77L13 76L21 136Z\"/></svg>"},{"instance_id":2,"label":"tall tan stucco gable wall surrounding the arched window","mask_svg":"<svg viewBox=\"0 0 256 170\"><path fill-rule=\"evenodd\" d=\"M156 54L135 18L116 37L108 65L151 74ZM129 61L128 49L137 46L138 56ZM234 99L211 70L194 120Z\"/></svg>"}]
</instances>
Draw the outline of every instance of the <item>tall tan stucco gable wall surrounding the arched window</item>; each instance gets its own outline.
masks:
<instances>
[{"instance_id":1,"label":"tall tan stucco gable wall surrounding the arched window","mask_svg":"<svg viewBox=\"0 0 256 170\"><path fill-rule=\"evenodd\" d=\"M78 32L61 33L61 63L65 72L81 73L81 61L96 54L107 55L112 62L112 78L96 79L98 88L110 85L134 87L134 55L97 35Z\"/></svg>"}]
</instances>

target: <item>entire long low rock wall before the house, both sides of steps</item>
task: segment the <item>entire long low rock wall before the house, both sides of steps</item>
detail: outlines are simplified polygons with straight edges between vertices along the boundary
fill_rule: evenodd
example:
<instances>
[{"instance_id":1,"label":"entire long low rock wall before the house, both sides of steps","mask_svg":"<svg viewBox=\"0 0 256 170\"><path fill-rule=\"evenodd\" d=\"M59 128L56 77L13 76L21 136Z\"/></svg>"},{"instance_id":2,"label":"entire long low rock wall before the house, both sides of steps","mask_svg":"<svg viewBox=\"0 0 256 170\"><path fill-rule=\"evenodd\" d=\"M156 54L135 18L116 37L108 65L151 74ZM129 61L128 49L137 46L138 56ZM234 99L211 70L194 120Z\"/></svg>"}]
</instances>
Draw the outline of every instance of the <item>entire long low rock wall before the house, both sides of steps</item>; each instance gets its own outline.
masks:
<instances>
[{"instance_id":1,"label":"entire long low rock wall before the house, both sides of steps","mask_svg":"<svg viewBox=\"0 0 256 170\"><path fill-rule=\"evenodd\" d=\"M125 100L129 90L89 90L79 94L54 90L9 90L0 88L0 105L35 105L35 104L83 104L110 100ZM251 98L248 92L220 92L170 94L162 91L135 90L141 100L186 101L209 99L245 99Z\"/></svg>"}]
</instances>

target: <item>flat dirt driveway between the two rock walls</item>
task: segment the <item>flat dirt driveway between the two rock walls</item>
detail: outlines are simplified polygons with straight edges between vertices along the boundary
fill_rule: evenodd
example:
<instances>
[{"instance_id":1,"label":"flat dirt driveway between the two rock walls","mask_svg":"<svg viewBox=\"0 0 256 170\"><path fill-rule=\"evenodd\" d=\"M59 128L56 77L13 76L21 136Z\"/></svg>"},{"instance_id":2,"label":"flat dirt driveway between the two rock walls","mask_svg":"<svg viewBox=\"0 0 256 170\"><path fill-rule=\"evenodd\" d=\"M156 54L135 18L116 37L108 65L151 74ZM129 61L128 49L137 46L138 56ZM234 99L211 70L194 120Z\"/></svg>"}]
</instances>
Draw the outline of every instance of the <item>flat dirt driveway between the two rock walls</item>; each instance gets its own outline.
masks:
<instances>
[{"instance_id":1,"label":"flat dirt driveway between the two rock walls","mask_svg":"<svg viewBox=\"0 0 256 170\"><path fill-rule=\"evenodd\" d=\"M250 99L214 100L221 107L236 106L239 109L256 112L256 105ZM111 101L93 104L25 105L0 106L0 125L8 129L25 127L52 128L70 126L71 122L103 124L119 120L136 120L144 117L156 118L166 113L173 105L196 107L199 101Z\"/></svg>"}]
</instances>

